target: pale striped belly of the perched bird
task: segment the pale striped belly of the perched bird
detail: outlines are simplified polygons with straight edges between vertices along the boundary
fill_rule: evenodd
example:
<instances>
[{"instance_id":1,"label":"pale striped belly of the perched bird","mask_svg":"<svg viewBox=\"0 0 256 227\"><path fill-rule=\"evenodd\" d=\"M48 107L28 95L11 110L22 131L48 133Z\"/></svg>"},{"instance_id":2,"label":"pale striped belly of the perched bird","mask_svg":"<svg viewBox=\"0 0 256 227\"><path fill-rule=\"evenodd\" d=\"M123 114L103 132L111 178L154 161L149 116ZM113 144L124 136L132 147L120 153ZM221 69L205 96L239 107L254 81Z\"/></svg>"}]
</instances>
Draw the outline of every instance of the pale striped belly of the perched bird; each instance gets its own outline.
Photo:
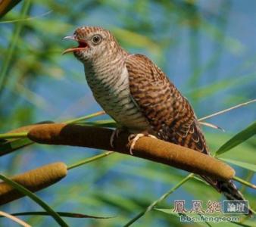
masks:
<instances>
[{"instance_id":1,"label":"pale striped belly of the perched bird","mask_svg":"<svg viewBox=\"0 0 256 227\"><path fill-rule=\"evenodd\" d=\"M95 100L117 123L138 132L148 129L148 121L142 116L139 107L130 95L129 77L126 68L120 76L88 75L89 83Z\"/></svg>"}]
</instances>

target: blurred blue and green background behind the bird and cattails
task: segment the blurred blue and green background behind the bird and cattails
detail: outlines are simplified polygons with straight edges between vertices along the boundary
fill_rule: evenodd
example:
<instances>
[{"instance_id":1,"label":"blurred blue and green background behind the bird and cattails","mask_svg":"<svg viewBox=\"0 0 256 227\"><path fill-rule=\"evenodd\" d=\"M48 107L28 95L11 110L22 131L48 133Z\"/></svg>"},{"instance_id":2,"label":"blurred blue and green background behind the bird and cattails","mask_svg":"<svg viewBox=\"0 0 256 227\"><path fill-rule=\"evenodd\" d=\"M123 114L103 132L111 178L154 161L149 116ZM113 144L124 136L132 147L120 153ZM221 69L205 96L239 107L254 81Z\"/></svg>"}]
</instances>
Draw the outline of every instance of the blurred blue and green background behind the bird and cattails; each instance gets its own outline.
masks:
<instances>
[{"instance_id":1,"label":"blurred blue and green background behind the bird and cattails","mask_svg":"<svg viewBox=\"0 0 256 227\"><path fill-rule=\"evenodd\" d=\"M114 33L123 48L155 61L189 99L198 117L251 100L256 97L255 8L253 0L21 1L0 20L1 132L101 110L86 85L83 65L72 54L61 55L71 44L62 38L82 25L103 26ZM208 120L226 131L204 127L211 151L253 122L255 110L255 104L251 104ZM221 157L254 164L255 148L256 140L251 138ZM11 176L55 161L71 164L101 152L31 145L1 157L0 171ZM255 184L252 171L233 167L238 176ZM158 163L112 154L70 170L61 182L37 194L57 211L116 216L66 219L71 226L120 226L186 175ZM255 209L255 191L236 185ZM179 199L190 206L192 199L206 204L223 197L203 182L191 179L158 207L171 208ZM26 197L1 209L14 213L41 207ZM52 217L22 219L33 226L56 225ZM246 223L252 225L252 221ZM16 225L0 219L0 226ZM176 216L152 210L135 226L185 225Z\"/></svg>"}]
</instances>

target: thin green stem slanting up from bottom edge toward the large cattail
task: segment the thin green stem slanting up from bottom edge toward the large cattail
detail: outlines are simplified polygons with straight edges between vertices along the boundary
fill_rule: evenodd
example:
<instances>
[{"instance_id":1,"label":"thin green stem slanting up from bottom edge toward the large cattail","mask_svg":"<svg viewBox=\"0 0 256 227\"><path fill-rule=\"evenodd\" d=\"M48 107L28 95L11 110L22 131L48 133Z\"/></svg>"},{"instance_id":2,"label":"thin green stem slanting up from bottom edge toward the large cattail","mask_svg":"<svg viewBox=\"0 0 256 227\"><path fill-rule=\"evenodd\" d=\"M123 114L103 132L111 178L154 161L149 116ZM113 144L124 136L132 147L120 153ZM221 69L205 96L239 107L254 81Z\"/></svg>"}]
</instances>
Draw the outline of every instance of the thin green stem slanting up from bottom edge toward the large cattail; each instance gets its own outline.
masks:
<instances>
[{"instance_id":1,"label":"thin green stem slanting up from bottom edge toward the large cattail","mask_svg":"<svg viewBox=\"0 0 256 227\"><path fill-rule=\"evenodd\" d=\"M126 225L123 225L124 227L132 225L136 220L138 220L140 217L142 217L145 213L148 213L148 211L152 210L156 204L163 201L166 197L168 197L170 194L173 193L177 188L180 188L181 185L183 185L185 182L187 182L189 179L191 179L194 176L194 173L190 173L186 178L184 178L182 181L180 181L177 185L175 185L173 188L170 189L170 191L167 191L165 194L163 194L158 200L151 203L145 210L143 210L141 213L139 213L137 216L135 216L133 219L130 220L130 222L126 223Z\"/></svg>"}]
</instances>

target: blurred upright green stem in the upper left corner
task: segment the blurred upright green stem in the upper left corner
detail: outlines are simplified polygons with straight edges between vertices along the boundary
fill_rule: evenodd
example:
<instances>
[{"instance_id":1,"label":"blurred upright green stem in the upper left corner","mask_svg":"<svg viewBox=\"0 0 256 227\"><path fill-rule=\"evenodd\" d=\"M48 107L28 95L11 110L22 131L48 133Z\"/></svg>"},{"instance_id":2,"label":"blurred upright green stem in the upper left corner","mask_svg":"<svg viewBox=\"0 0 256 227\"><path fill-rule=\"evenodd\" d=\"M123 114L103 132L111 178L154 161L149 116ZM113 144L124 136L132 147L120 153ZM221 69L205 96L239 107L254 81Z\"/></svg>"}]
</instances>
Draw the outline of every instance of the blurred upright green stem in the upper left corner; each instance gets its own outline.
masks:
<instances>
[{"instance_id":1,"label":"blurred upright green stem in the upper left corner","mask_svg":"<svg viewBox=\"0 0 256 227\"><path fill-rule=\"evenodd\" d=\"M27 12L30 8L31 0L24 1L21 12L20 12L20 19L26 17ZM11 64L11 58L14 54L14 49L17 47L17 42L19 40L19 36L21 30L23 28L23 22L17 23L14 28L13 36L11 37L11 41L9 43L8 52L5 54L5 61L2 64L2 69L0 70L0 91L2 90L2 86L5 84L6 73L8 71L8 67Z\"/></svg>"}]
</instances>

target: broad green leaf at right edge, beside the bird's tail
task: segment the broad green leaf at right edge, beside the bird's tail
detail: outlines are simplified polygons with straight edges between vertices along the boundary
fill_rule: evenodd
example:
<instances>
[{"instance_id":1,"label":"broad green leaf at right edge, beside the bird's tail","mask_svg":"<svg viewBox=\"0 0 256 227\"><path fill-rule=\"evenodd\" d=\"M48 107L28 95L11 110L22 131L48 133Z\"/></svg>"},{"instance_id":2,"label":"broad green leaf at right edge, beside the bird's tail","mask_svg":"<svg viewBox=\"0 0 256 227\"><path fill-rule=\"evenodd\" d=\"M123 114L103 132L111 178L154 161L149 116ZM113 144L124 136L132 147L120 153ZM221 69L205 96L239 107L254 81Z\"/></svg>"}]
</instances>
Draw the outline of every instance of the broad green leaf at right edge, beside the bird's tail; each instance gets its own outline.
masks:
<instances>
[{"instance_id":1,"label":"broad green leaf at right edge, beside the bird's tail","mask_svg":"<svg viewBox=\"0 0 256 227\"><path fill-rule=\"evenodd\" d=\"M251 136L256 134L256 121L248 126L246 129L237 133L233 138L230 138L229 141L226 141L215 153L215 156L225 153L232 148L235 148L237 145L242 144L242 142L251 138Z\"/></svg>"}]
</instances>

